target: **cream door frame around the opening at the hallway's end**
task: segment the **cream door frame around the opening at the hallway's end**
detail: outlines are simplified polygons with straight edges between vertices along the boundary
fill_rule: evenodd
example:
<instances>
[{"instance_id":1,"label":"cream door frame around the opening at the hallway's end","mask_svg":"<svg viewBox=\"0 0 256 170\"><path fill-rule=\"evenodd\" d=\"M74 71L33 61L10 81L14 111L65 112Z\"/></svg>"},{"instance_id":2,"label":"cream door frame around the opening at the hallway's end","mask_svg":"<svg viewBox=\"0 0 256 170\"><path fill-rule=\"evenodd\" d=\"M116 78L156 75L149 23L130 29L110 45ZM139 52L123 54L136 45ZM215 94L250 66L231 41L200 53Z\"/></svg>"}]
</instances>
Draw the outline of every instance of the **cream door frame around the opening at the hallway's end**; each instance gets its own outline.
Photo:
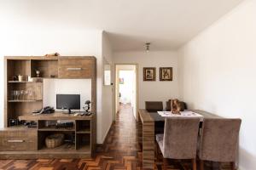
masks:
<instances>
[{"instance_id":1,"label":"cream door frame around the opening at the hallway's end","mask_svg":"<svg viewBox=\"0 0 256 170\"><path fill-rule=\"evenodd\" d=\"M114 111L114 120L116 119L116 114L118 113L118 111L116 111L116 85L117 85L117 65L135 65L135 71L136 71L136 121L139 120L138 117L138 64L137 63L115 63L114 64L114 90L113 90L113 96L114 96L114 104L113 104L113 111Z\"/></svg>"}]
</instances>

